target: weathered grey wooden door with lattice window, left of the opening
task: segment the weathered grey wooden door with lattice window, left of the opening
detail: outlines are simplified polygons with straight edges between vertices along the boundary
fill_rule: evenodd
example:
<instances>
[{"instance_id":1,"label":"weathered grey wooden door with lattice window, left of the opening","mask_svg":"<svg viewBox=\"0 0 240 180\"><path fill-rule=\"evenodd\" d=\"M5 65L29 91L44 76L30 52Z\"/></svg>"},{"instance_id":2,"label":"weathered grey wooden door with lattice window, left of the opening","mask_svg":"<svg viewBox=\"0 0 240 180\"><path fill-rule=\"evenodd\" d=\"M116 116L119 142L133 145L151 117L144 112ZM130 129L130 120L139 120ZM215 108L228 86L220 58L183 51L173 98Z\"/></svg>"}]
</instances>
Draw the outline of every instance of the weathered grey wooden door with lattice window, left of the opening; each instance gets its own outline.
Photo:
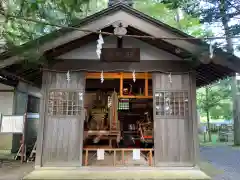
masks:
<instances>
[{"instance_id":1,"label":"weathered grey wooden door with lattice window, left of the opening","mask_svg":"<svg viewBox=\"0 0 240 180\"><path fill-rule=\"evenodd\" d=\"M83 73L49 73L45 81L42 144L43 166L81 166L85 76Z\"/></svg>"}]
</instances>

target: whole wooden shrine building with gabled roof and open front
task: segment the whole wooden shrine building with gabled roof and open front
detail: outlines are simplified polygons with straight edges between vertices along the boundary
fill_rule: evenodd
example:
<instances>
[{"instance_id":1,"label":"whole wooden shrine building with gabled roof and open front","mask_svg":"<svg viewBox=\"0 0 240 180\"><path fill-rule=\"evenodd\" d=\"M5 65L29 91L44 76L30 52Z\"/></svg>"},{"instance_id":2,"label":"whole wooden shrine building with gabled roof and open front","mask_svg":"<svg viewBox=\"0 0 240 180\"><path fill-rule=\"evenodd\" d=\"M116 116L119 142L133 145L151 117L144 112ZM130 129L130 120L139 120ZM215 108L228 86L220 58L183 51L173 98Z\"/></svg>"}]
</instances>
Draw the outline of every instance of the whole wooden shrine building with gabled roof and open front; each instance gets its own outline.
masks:
<instances>
[{"instance_id":1,"label":"whole wooden shrine building with gabled roof and open front","mask_svg":"<svg viewBox=\"0 0 240 180\"><path fill-rule=\"evenodd\" d=\"M0 56L2 76L41 87L35 167L196 170L196 88L240 72L239 59L220 49L210 59L202 41L123 3L73 27L20 47L38 44L37 66L24 66L23 54ZM100 30L107 33L99 59Z\"/></svg>"}]
</instances>

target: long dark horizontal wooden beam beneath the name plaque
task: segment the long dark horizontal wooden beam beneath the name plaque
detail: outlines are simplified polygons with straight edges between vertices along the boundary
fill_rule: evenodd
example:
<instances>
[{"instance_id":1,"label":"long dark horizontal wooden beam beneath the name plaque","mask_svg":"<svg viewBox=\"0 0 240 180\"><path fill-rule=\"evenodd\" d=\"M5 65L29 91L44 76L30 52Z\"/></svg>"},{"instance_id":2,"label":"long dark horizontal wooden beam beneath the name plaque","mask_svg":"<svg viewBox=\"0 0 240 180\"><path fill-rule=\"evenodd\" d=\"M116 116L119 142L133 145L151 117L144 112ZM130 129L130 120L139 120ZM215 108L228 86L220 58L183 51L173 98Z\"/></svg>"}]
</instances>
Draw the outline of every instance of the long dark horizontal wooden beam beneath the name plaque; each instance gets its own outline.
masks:
<instances>
[{"instance_id":1,"label":"long dark horizontal wooden beam beneath the name plaque","mask_svg":"<svg viewBox=\"0 0 240 180\"><path fill-rule=\"evenodd\" d=\"M147 60L137 63L132 62L114 62L104 63L99 60L82 60L82 59L53 59L56 64L52 65L51 69L58 71L80 71L81 69L86 72L128 72L134 69L135 72L186 72L195 67L193 61L179 61L179 60ZM132 75L131 75L132 78ZM144 77L143 77L144 79Z\"/></svg>"}]
</instances>

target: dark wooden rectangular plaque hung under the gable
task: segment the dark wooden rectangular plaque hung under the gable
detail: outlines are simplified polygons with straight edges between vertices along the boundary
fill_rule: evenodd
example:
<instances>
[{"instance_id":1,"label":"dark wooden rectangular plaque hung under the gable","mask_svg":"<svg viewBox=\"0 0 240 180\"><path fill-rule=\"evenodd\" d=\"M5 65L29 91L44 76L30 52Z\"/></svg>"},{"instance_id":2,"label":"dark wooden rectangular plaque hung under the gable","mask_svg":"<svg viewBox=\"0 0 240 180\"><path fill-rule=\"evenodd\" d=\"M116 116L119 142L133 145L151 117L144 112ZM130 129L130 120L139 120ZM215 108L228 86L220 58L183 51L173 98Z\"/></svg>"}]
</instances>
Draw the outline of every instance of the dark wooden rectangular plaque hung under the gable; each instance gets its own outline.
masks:
<instances>
[{"instance_id":1,"label":"dark wooden rectangular plaque hung under the gable","mask_svg":"<svg viewBox=\"0 0 240 180\"><path fill-rule=\"evenodd\" d=\"M104 62L140 62L139 48L103 48L101 61Z\"/></svg>"}]
</instances>

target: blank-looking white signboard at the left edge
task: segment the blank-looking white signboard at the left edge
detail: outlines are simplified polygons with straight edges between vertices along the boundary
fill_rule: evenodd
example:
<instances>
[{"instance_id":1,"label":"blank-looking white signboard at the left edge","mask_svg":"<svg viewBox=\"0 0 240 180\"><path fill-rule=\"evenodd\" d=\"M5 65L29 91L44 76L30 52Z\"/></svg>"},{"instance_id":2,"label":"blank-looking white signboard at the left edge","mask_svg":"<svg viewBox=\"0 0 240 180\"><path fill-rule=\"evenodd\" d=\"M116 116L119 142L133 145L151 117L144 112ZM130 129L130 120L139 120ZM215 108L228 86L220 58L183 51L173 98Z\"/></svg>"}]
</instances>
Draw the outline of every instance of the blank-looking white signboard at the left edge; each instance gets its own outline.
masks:
<instances>
[{"instance_id":1,"label":"blank-looking white signboard at the left edge","mask_svg":"<svg viewBox=\"0 0 240 180\"><path fill-rule=\"evenodd\" d=\"M24 116L2 116L1 133L23 133Z\"/></svg>"}]
</instances>

